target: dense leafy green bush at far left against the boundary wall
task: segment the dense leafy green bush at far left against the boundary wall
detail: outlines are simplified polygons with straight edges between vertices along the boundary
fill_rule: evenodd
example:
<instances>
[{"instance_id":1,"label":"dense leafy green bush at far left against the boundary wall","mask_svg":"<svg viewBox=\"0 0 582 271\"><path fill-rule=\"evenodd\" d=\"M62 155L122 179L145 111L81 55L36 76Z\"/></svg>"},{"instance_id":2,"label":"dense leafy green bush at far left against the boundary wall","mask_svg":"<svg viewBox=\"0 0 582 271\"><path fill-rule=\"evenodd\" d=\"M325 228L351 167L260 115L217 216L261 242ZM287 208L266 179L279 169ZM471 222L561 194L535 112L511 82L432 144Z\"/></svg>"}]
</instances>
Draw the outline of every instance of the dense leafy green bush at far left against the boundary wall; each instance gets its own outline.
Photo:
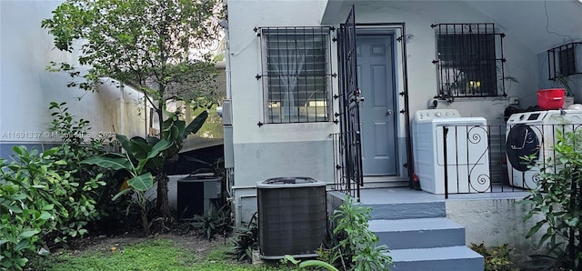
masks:
<instances>
[{"instance_id":1,"label":"dense leafy green bush at far left against the boundary wall","mask_svg":"<svg viewBox=\"0 0 582 271\"><path fill-rule=\"evenodd\" d=\"M101 172L81 166L103 153L103 138L90 138L89 122L76 120L65 103L51 103L50 130L61 146L43 153L15 146L11 163L0 161L0 260L22 268L27 254L42 243L84 236L88 222L99 219L97 202L104 190Z\"/></svg>"}]
</instances>

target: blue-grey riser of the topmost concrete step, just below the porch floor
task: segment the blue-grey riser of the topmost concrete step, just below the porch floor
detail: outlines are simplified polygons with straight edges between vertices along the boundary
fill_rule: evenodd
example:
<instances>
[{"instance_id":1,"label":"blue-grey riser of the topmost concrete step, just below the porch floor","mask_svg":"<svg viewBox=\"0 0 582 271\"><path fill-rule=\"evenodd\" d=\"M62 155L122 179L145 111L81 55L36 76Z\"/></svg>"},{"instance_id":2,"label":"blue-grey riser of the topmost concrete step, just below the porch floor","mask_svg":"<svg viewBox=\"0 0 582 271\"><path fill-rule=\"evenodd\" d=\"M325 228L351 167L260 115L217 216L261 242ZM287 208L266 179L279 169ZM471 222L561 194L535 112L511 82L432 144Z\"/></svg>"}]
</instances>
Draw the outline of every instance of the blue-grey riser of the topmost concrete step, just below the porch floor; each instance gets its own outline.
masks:
<instances>
[{"instance_id":1,"label":"blue-grey riser of the topmost concrete step, just below the porch floor","mask_svg":"<svg viewBox=\"0 0 582 271\"><path fill-rule=\"evenodd\" d=\"M372 207L372 219L410 219L446 217L447 209L444 200L393 203L393 204L364 204Z\"/></svg>"}]
</instances>

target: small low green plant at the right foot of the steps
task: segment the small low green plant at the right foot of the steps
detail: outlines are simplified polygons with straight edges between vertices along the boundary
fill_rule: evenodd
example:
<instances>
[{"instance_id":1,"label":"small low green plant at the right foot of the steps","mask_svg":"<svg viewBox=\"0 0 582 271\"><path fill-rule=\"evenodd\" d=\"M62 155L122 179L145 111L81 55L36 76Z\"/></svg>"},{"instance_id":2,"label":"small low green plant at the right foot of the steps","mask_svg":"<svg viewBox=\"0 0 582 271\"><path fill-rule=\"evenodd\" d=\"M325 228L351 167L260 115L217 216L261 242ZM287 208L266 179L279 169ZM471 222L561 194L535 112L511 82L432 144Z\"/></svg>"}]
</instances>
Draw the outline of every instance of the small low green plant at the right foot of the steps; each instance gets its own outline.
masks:
<instances>
[{"instance_id":1,"label":"small low green plant at the right foot of the steps","mask_svg":"<svg viewBox=\"0 0 582 271\"><path fill-rule=\"evenodd\" d=\"M485 258L485 271L517 271L517 267L513 266L509 258L509 247L507 244L503 246L492 246L487 248L483 243L476 245L471 244L473 249L478 254Z\"/></svg>"}]
</instances>

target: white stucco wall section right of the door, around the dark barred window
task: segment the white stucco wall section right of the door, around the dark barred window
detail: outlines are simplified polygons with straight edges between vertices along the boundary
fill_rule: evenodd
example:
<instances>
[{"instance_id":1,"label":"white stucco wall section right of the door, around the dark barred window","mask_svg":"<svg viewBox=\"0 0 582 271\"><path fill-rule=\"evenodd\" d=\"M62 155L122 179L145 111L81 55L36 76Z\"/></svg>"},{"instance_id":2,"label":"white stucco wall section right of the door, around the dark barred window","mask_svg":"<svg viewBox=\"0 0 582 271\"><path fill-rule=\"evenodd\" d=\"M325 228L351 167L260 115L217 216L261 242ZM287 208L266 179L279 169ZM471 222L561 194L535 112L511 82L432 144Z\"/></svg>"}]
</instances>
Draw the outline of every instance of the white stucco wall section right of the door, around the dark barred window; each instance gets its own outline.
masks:
<instances>
[{"instance_id":1,"label":"white stucco wall section right of the door, around the dark barred window","mask_svg":"<svg viewBox=\"0 0 582 271\"><path fill-rule=\"evenodd\" d=\"M338 12L343 20L347 8ZM326 17L329 23L335 22ZM358 1L356 23L406 23L406 34L413 35L406 44L408 64L408 89L410 112L426 109L429 99L437 95L435 30L432 24L442 23L497 23L461 1ZM507 83L508 96L521 96L522 92L537 89L537 57L516 35L496 24L497 31L505 33L503 40L506 75L519 81ZM438 108L455 108L463 116L483 116L490 125L505 125L503 110L506 98L457 98L454 103L439 101Z\"/></svg>"}]
</instances>

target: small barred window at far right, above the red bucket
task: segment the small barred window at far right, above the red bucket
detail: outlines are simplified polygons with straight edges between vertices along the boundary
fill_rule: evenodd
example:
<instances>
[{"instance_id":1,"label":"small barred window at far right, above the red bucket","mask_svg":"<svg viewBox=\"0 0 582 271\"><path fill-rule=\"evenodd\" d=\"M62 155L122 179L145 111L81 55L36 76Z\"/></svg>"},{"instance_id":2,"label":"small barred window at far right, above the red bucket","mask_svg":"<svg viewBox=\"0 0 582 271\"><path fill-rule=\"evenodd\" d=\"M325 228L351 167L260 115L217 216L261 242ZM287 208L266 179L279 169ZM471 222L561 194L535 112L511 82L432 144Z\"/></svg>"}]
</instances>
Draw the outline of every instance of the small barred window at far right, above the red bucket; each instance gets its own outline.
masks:
<instances>
[{"instance_id":1,"label":"small barred window at far right, above the red bucket","mask_svg":"<svg viewBox=\"0 0 582 271\"><path fill-rule=\"evenodd\" d=\"M559 45L547 50L548 79L582 74L582 42Z\"/></svg>"}]
</instances>

